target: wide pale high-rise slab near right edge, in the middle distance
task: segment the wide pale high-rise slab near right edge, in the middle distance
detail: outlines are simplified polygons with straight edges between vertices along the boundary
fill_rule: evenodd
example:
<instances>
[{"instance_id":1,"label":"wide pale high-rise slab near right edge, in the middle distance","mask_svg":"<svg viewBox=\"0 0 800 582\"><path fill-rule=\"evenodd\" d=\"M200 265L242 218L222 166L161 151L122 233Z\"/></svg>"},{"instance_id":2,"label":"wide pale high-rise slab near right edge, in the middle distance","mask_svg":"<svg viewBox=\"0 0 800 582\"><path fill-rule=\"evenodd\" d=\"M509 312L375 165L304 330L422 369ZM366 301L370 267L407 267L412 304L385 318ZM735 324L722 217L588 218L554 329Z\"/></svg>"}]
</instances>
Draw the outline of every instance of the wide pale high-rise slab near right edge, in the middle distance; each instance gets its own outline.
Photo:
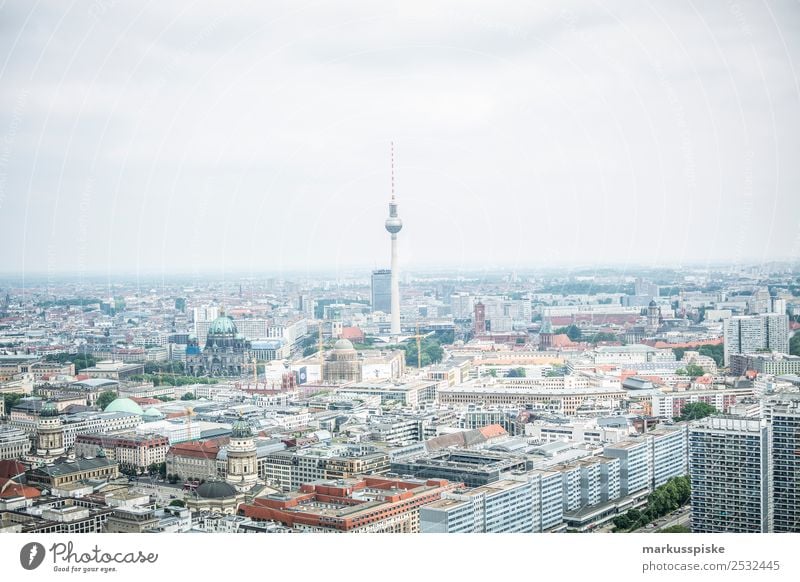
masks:
<instances>
[{"instance_id":1,"label":"wide pale high-rise slab near right edge, in the middle distance","mask_svg":"<svg viewBox=\"0 0 800 582\"><path fill-rule=\"evenodd\" d=\"M724 320L725 365L731 354L789 351L789 316L764 313L729 317Z\"/></svg>"}]
</instances>

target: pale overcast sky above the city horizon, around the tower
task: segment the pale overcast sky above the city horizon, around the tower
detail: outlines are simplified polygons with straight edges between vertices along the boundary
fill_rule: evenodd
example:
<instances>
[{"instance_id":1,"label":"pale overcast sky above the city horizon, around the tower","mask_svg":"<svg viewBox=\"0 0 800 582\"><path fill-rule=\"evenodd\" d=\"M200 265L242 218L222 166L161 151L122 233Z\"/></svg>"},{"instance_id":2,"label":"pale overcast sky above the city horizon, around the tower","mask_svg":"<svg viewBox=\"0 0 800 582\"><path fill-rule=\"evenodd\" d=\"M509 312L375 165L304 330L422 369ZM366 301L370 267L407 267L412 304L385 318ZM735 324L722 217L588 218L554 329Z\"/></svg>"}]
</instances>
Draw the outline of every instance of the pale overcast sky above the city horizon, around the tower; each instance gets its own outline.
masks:
<instances>
[{"instance_id":1,"label":"pale overcast sky above the city horizon, around the tower","mask_svg":"<svg viewBox=\"0 0 800 582\"><path fill-rule=\"evenodd\" d=\"M434 4L435 6L431 6ZM0 271L800 254L798 2L4 2Z\"/></svg>"}]
</instances>

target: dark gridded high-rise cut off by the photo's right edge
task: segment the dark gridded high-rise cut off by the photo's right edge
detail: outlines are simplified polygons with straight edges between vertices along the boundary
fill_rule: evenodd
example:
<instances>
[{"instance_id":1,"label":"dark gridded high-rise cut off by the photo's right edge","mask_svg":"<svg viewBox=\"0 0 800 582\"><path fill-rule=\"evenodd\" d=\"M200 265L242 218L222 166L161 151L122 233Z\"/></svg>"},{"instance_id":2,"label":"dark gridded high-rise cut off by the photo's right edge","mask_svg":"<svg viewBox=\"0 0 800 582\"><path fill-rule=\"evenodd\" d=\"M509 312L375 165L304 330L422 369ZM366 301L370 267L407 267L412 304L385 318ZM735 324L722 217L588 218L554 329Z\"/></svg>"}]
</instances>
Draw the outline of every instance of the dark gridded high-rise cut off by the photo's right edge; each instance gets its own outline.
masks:
<instances>
[{"instance_id":1,"label":"dark gridded high-rise cut off by the photo's right edge","mask_svg":"<svg viewBox=\"0 0 800 582\"><path fill-rule=\"evenodd\" d=\"M776 532L800 532L800 399L772 409L773 514Z\"/></svg>"}]
</instances>

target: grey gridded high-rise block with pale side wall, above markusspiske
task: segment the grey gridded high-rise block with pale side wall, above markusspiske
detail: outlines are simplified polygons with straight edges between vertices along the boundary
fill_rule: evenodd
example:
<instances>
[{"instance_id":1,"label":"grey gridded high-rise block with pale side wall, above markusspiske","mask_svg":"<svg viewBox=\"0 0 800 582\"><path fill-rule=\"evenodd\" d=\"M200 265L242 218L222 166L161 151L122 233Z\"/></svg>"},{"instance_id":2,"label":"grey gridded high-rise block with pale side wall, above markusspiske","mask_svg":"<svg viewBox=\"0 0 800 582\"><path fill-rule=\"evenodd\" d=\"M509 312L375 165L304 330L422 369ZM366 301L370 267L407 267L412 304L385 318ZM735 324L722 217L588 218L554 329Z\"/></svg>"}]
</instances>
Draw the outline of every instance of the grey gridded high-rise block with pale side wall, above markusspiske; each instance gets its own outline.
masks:
<instances>
[{"instance_id":1,"label":"grey gridded high-rise block with pale side wall, above markusspiske","mask_svg":"<svg viewBox=\"0 0 800 582\"><path fill-rule=\"evenodd\" d=\"M766 420L712 416L689 429L692 531L772 531Z\"/></svg>"}]
</instances>

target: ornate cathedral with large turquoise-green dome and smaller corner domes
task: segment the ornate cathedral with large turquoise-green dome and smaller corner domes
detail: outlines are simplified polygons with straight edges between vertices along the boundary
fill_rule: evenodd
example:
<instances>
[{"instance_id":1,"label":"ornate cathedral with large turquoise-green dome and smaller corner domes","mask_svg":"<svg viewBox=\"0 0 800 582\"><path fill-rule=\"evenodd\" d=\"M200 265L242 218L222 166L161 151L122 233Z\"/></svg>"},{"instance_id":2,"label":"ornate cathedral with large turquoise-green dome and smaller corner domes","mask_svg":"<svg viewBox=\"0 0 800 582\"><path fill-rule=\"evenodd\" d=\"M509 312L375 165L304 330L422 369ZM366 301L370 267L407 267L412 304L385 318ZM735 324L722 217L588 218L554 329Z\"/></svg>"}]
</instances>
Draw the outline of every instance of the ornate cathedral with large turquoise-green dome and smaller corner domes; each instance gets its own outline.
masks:
<instances>
[{"instance_id":1,"label":"ornate cathedral with large turquoise-green dome and smaller corner domes","mask_svg":"<svg viewBox=\"0 0 800 582\"><path fill-rule=\"evenodd\" d=\"M221 315L208 328L206 345L201 350L196 336L186 347L186 371L191 376L241 376L249 363L250 342L236 329L227 315Z\"/></svg>"}]
</instances>

